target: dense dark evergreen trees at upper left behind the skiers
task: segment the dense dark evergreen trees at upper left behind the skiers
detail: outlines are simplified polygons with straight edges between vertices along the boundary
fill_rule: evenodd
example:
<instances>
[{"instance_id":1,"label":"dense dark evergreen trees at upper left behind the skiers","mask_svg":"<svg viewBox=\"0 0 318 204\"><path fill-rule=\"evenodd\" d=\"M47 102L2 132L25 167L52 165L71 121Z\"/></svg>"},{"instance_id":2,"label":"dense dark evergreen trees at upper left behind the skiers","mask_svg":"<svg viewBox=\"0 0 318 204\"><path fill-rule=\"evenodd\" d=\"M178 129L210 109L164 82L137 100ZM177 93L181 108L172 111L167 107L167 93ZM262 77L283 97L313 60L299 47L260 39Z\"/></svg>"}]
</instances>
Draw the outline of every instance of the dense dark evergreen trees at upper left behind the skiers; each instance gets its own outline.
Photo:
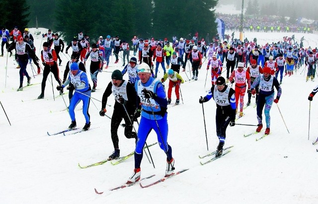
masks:
<instances>
[{"instance_id":1,"label":"dense dark evergreen trees at upper left behind the skiers","mask_svg":"<svg viewBox=\"0 0 318 204\"><path fill-rule=\"evenodd\" d=\"M72 41L80 31L95 42L99 36L139 38L189 38L217 33L214 7L218 0L2 0L1 24L7 27L38 27L59 32ZM23 12L21 12L23 11ZM30 15L28 15L31 13Z\"/></svg>"}]
</instances>

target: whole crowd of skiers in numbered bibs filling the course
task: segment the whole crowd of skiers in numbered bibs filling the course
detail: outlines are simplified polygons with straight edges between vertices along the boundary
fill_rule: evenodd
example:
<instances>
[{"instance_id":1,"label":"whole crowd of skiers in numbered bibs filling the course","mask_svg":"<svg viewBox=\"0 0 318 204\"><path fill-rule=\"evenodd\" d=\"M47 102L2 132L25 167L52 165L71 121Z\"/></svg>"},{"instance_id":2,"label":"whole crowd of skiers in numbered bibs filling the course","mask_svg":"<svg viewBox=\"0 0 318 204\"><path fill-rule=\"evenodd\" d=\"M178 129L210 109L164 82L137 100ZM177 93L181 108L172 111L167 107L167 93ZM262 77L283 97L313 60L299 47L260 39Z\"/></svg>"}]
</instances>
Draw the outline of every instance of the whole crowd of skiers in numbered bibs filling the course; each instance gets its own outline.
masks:
<instances>
[{"instance_id":1,"label":"whole crowd of skiers in numbered bibs filling the course","mask_svg":"<svg viewBox=\"0 0 318 204\"><path fill-rule=\"evenodd\" d=\"M13 38L12 43L9 44L10 36ZM174 158L172 148L167 142L167 108L180 103L180 85L189 81L195 83L202 65L206 65L207 75L210 72L212 87L206 90L208 94L201 97L199 103L213 99L217 105L216 134L219 138L219 145L216 157L220 157L223 154L228 125L235 126L236 120L244 116L243 110L251 104L251 96L256 96L258 121L256 132L262 131L262 111L264 109L266 123L264 134L268 135L270 134L270 109L273 102L279 102L284 77L291 77L297 71L301 71L300 68L305 64L303 71L308 69L306 81L314 81L318 57L317 48L304 48L294 38L287 37L279 42L264 45L257 44L256 39L244 39L243 41L232 39L229 42L223 41L207 45L204 39L194 41L173 37L169 42L167 38L158 41L154 38L138 39L137 36L134 36L131 40L125 41L121 40L119 36L107 35L106 39L100 36L99 39L96 39L96 43L90 44L89 37L80 32L67 46L65 53L65 45L57 33L54 34L48 30L42 37L45 42L42 48L38 48L41 50L39 52L41 56L38 57L35 53L34 39L27 28L24 29L23 35L17 28L11 32L2 28L1 56L3 56L4 45L6 45L7 57L8 53L11 56L12 51L15 50L17 68L20 69L17 91L23 91L24 76L27 78L27 84L30 84L31 77L26 71L26 67L28 63L31 64L31 60L37 67L37 74L40 74L43 69L41 94L38 99L44 98L46 80L50 72L59 84L56 89L61 95L63 95L64 88L67 87L71 118L69 129L77 126L74 110L80 100L83 102L82 112L85 117L83 130L89 129L89 103L91 93L97 87L97 75L102 72L103 68L107 69L111 66L112 56L115 56L114 63L117 64L117 68L121 67L118 65L121 58L122 70L116 69L112 72L110 82L102 97L99 114L105 116L107 99L113 95L115 105L110 132L114 152L109 159L120 157L117 130L124 119L124 135L126 138L135 139L136 143L135 168L128 183L140 179L143 149L151 130L156 132L160 148L167 156L165 175L168 177L173 174ZM303 40L304 38L300 40L301 44ZM70 48L72 48L71 55L68 53ZM70 59L65 65L63 80L59 78L59 66L62 66L61 53ZM89 73L92 88L86 72L88 59L90 59ZM40 60L44 68L38 63ZM159 78L159 69L163 71L162 78ZM210 69L211 71L209 71ZM226 73L223 74L225 71ZM128 80L123 79L123 75L126 73ZM187 73L190 75L188 76ZM166 94L164 82L167 79L169 83ZM232 85L235 85L234 89ZM176 101L172 104L173 88ZM277 90L276 94L274 89ZM310 101L313 100L317 90L318 88L314 89L310 94ZM248 95L246 105L244 105L245 93ZM140 121L138 121L139 118ZM134 122L139 123L137 132L133 126Z\"/></svg>"}]
</instances>

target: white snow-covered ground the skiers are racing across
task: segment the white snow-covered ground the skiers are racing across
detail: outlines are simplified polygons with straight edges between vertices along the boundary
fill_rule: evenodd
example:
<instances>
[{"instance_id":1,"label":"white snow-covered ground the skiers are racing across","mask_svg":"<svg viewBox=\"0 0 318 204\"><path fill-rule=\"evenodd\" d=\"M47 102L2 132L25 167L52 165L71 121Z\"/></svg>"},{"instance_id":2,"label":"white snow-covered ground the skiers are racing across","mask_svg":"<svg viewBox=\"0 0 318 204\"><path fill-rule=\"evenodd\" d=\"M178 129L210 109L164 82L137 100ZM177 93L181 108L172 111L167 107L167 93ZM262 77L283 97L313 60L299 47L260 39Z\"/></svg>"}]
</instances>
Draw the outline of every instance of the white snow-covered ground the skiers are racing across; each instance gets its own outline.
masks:
<instances>
[{"instance_id":1,"label":"white snow-covered ground the skiers are racing across","mask_svg":"<svg viewBox=\"0 0 318 204\"><path fill-rule=\"evenodd\" d=\"M34 29L30 29L34 33ZM47 29L43 29L45 33ZM281 41L291 33L245 33L244 38L257 38L257 43ZM236 34L238 38L239 34ZM314 34L295 34L296 39L305 36L304 46L315 48L318 40ZM34 36L35 37L35 36ZM41 48L41 38L35 40L37 54ZM132 54L132 53L131 53ZM45 99L35 100L41 93L42 75L32 76L30 65L28 73L31 83L37 84L16 92L19 86L19 70L13 57L7 60L7 78L5 87L4 57L0 57L0 101L12 126L0 109L0 203L3 204L104 204L104 203L185 203L185 204L317 204L318 153L312 143L318 137L317 98L311 105L311 129L308 140L309 101L308 95L317 83L305 81L304 69L297 74L284 77L282 96L278 103L280 111L289 129L288 134L277 105L271 109L271 134L255 142L262 135L244 138L243 134L254 132L256 127L236 125L228 127L226 145L234 146L232 152L204 166L200 165L198 155L212 152L218 145L215 132L215 102L204 103L209 151L207 151L202 105L198 100L205 96L205 90L211 85L208 76L206 88L205 69L207 60L199 70L199 79L185 82L181 86L183 103L168 109L169 137L177 170L189 168L163 183L142 189L134 185L125 189L108 191L124 184L134 169L131 157L118 165L107 162L103 165L80 169L108 157L113 152L110 137L110 119L100 117L101 103L93 100L89 112L91 128L96 129L75 135L48 136L50 133L66 129L70 117L65 109L62 97L57 97L53 78L55 101L52 85L47 81ZM63 62L60 74L65 69L68 58L62 54ZM111 57L109 72L98 75L97 91L92 97L101 100L104 89L111 80L111 71L122 69L122 63L114 64ZM126 62L127 63L127 62ZM86 64L89 67L89 61ZM187 70L188 70L187 66ZM225 76L223 73L223 76ZM187 72L189 76L189 72ZM161 70L159 78L163 75ZM181 73L187 79L185 73ZM90 76L89 76L90 77ZM127 79L127 75L124 79ZM49 78L51 80L51 77ZM167 82L165 83L167 87ZM26 85L24 78L23 85ZM66 91L66 90L65 90ZM275 91L276 92L276 91ZM67 95L64 95L67 100ZM22 102L23 101L23 102ZM175 95L172 92L172 102ZM245 96L247 102L247 95ZM257 124L256 108L244 109L245 115L237 123ZM67 102L68 103L68 102ZM108 104L113 106L110 96ZM78 127L84 125L84 117L77 107ZM111 116L113 107L107 106L107 115ZM265 121L263 121L265 123ZM137 128L137 125L135 125ZM119 127L119 146L121 156L134 151L134 141L124 137L124 128ZM157 141L152 132L148 144ZM164 175L165 154L156 145L150 148L155 169L146 155L142 161L142 177L156 174L142 183L148 184ZM208 158L201 159L202 161ZM104 191L97 195L94 188Z\"/></svg>"}]
</instances>

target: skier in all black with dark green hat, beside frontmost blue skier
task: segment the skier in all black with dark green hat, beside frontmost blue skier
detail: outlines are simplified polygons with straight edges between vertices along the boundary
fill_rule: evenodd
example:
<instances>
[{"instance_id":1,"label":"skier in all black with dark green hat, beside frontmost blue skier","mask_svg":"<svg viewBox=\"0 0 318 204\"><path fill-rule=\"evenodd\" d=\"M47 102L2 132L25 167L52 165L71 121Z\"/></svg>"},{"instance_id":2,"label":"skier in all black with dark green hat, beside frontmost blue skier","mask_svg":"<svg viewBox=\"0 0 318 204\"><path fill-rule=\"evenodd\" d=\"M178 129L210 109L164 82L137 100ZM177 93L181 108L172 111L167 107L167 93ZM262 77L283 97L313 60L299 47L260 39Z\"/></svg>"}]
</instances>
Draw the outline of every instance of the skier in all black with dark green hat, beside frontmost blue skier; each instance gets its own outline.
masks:
<instances>
[{"instance_id":1,"label":"skier in all black with dark green hat, beside frontmost blue skier","mask_svg":"<svg viewBox=\"0 0 318 204\"><path fill-rule=\"evenodd\" d=\"M120 155L119 139L117 135L120 122L125 120L125 136L126 138L134 138L137 142L137 134L133 132L132 121L136 110L136 92L129 81L123 80L121 71L115 70L111 74L112 81L109 82L102 98L102 107L99 111L100 116L104 116L106 112L106 103L108 97L113 94L115 97L115 105L113 115L111 117L110 134L114 145L114 152L109 155L109 160L116 159ZM126 112L127 110L127 112ZM128 115L127 115L128 114Z\"/></svg>"}]
</instances>

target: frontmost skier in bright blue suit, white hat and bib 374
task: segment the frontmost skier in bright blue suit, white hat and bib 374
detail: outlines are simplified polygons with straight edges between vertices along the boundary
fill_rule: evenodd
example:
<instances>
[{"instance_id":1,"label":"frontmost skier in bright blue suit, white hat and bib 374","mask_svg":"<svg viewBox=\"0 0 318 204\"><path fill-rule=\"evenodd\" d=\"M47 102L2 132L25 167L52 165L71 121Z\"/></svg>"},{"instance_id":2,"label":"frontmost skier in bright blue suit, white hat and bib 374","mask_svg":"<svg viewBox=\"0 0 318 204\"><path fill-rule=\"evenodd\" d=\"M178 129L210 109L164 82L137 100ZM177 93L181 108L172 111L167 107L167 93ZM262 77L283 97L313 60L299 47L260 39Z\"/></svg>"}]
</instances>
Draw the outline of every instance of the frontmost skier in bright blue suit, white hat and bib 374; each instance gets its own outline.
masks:
<instances>
[{"instance_id":1,"label":"frontmost skier in bright blue suit, white hat and bib 374","mask_svg":"<svg viewBox=\"0 0 318 204\"><path fill-rule=\"evenodd\" d=\"M160 148L167 155L165 175L171 175L174 170L172 148L167 143L167 100L163 86L159 80L151 77L150 68L146 63L139 65L138 76L140 80L136 82L135 89L141 100L142 112L135 149L135 169L127 181L128 184L140 180L140 164L143 159L143 148L152 129L157 133Z\"/></svg>"}]
</instances>

